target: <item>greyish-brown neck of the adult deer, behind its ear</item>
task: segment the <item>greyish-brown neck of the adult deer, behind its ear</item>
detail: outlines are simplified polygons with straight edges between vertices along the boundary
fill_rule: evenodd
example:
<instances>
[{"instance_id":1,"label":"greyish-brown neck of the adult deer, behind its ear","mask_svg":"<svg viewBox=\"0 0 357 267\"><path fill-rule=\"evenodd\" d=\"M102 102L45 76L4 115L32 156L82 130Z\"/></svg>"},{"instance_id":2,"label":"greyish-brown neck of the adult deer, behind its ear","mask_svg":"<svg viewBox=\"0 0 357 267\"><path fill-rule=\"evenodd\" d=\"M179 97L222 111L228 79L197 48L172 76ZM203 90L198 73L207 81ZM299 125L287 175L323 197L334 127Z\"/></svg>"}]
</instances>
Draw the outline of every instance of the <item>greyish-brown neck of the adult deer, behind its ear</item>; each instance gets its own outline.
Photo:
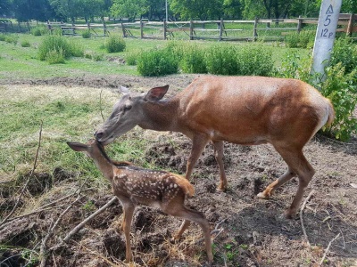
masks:
<instances>
[{"instance_id":1,"label":"greyish-brown neck of the adult deer, behind its ear","mask_svg":"<svg viewBox=\"0 0 357 267\"><path fill-rule=\"evenodd\" d=\"M145 121L139 124L144 129L155 131L178 131L179 101L146 102L144 105Z\"/></svg>"}]
</instances>

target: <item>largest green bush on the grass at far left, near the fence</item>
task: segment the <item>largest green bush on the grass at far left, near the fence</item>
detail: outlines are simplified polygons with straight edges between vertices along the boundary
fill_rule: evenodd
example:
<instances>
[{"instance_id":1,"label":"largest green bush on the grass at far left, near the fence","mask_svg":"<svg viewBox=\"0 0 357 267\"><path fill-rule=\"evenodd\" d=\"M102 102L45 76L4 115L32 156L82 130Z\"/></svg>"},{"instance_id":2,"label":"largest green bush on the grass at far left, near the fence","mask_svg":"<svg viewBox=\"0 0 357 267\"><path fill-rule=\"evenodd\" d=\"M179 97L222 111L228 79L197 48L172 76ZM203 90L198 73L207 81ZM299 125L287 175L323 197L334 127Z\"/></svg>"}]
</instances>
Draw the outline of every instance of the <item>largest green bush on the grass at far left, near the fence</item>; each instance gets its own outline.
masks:
<instances>
[{"instance_id":1,"label":"largest green bush on the grass at far left, near the fence","mask_svg":"<svg viewBox=\"0 0 357 267\"><path fill-rule=\"evenodd\" d=\"M62 36L46 36L42 44L38 47L38 57L40 61L46 61L46 57L49 52L55 53L61 52L64 59L68 59L71 56L83 56L84 52L79 45L71 42Z\"/></svg>"}]
</instances>

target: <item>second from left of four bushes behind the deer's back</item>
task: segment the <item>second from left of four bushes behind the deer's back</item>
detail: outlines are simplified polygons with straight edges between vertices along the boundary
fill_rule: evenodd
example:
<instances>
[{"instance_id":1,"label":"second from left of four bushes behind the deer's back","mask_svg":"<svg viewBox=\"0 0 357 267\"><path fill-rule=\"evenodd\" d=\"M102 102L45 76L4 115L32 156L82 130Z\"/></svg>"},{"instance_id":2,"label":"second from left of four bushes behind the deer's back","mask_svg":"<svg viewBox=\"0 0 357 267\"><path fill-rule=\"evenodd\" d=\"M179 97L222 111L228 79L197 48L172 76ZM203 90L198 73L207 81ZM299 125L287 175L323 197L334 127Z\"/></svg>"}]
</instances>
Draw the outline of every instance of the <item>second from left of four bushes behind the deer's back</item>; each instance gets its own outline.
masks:
<instances>
[{"instance_id":1,"label":"second from left of four bushes behind the deer's back","mask_svg":"<svg viewBox=\"0 0 357 267\"><path fill-rule=\"evenodd\" d=\"M196 44L183 46L183 53L179 61L179 67L185 73L206 73L204 50Z\"/></svg>"}]
</instances>

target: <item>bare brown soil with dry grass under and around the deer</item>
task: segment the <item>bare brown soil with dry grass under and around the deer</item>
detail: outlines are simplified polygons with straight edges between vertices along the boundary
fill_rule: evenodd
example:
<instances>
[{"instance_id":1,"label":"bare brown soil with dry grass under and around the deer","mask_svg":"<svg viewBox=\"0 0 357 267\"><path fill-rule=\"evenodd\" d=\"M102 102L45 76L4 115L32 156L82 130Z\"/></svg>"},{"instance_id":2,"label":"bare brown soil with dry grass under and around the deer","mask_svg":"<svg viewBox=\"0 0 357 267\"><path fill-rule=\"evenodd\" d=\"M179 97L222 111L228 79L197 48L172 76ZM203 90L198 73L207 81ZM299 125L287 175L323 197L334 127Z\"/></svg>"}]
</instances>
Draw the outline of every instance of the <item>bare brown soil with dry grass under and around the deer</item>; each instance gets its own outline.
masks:
<instances>
[{"instance_id":1,"label":"bare brown soil with dry grass under and around the deer","mask_svg":"<svg viewBox=\"0 0 357 267\"><path fill-rule=\"evenodd\" d=\"M0 83L80 85L109 87L113 90L118 85L125 85L143 91L156 85L170 85L170 97L186 87L193 78L187 75L158 78L103 76L48 80L3 79ZM144 130L139 131L144 133ZM147 161L160 168L185 173L191 148L191 142L186 136L151 131L145 131L144 134L153 139L152 145L145 150ZM317 134L305 146L304 154L316 174L303 199L313 190L312 195L304 206L303 217L297 214L295 219L287 220L282 214L294 198L297 180L287 182L269 200L256 197L258 192L286 170L284 161L270 145L244 147L225 143L224 162L229 184L226 192L216 190L219 182L218 166L213 157L212 145L207 146L195 167L192 180L195 197L187 199L187 206L202 211L212 230L216 229L212 235L215 255L213 266L318 266L321 260L326 266L357 266L357 138L353 137L346 143ZM52 189L52 194L47 194L52 198L43 199L43 206L62 198L62 188L71 187L71 173L67 170L58 168L51 175L58 187ZM46 174L37 174L37 181L46 183L46 177ZM37 190L38 184L33 188ZM2 196L0 206L13 206L13 198L6 198L4 189ZM72 206L63 216L48 247L60 243L66 233L111 198L109 189L85 194L79 203L91 201L94 207L88 207L86 211L79 208L79 205ZM6 243L10 247L7 251L2 250L0 265L21 266L26 263L21 260L21 255L16 255L13 247L34 247L34 243L46 236L54 219L61 213L60 208L44 210L19 218L0 229L0 244ZM121 214L120 204L116 202L87 223L68 245L51 251L46 266L124 265L125 244L118 227ZM308 240L303 235L302 223ZM170 242L171 235L179 225L179 219L163 214L160 210L138 207L131 231L135 259L131 265L205 265L207 257L200 240L202 233L197 225L191 225L179 242Z\"/></svg>"}]
</instances>

